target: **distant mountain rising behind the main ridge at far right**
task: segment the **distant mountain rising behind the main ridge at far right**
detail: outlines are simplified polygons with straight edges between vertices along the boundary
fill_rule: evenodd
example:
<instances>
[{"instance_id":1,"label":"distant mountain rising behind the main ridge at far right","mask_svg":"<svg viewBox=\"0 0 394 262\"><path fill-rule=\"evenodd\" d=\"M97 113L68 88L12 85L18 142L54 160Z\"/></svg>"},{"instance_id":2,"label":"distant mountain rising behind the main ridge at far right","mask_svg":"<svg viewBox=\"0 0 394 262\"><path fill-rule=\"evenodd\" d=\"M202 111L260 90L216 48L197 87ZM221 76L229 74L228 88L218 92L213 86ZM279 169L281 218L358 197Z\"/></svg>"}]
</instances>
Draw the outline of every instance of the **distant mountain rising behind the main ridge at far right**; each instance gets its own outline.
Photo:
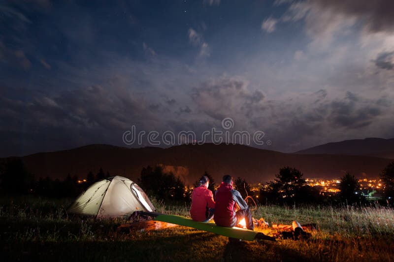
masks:
<instances>
[{"instance_id":1,"label":"distant mountain rising behind the main ridge at far right","mask_svg":"<svg viewBox=\"0 0 394 262\"><path fill-rule=\"evenodd\" d=\"M328 143L297 151L296 154L368 155L394 159L394 138L365 138Z\"/></svg>"}]
</instances>

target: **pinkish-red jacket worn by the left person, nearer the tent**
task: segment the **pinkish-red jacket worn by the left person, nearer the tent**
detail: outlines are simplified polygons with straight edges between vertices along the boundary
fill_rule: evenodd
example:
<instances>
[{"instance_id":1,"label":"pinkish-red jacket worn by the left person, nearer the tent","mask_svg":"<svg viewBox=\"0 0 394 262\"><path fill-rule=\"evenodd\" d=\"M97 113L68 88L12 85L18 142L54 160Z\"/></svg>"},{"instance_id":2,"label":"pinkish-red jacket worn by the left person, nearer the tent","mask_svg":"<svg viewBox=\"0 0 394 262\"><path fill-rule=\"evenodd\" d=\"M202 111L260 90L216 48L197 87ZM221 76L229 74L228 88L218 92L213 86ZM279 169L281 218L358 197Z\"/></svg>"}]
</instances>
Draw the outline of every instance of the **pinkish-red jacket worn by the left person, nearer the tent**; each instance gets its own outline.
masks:
<instances>
[{"instance_id":1,"label":"pinkish-red jacket worn by the left person, nearer the tent","mask_svg":"<svg viewBox=\"0 0 394 262\"><path fill-rule=\"evenodd\" d=\"M192 192L192 208L190 208L190 215L195 221L205 221L209 208L215 208L212 191L205 186L199 186L193 189Z\"/></svg>"}]
</instances>

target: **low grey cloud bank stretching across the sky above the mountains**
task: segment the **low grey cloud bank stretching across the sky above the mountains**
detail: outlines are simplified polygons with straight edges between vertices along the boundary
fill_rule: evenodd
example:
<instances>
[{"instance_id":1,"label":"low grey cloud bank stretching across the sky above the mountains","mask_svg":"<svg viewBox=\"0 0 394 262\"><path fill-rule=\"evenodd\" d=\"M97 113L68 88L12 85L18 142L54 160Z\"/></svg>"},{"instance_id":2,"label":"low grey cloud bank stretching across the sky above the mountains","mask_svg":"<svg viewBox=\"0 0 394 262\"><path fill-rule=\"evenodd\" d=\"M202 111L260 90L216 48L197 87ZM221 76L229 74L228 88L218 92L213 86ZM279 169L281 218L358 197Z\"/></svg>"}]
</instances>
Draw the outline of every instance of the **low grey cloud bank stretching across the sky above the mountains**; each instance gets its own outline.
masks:
<instances>
[{"instance_id":1,"label":"low grey cloud bank stretching across the sky above the mountains","mask_svg":"<svg viewBox=\"0 0 394 262\"><path fill-rule=\"evenodd\" d=\"M27 93L23 100L4 96L0 99L0 133L24 137L34 152L42 141L50 144L51 150L98 142L119 145L121 134L131 124L139 130L169 128L198 133L202 127L220 126L221 120L230 116L234 128L265 132L266 139L275 145L270 149L295 151L335 140L380 136L389 132L387 126L393 126L390 96L367 98L367 94L342 92L332 97L332 90L320 89L268 100L244 78L222 76L195 87L191 101L174 111L166 106L188 99L163 96L157 101L149 95L152 92L142 95L129 86L115 79L111 85L57 94ZM21 134L22 125L31 133ZM38 135L43 139L37 139ZM15 147L21 141L13 143ZM41 144L39 150L45 148Z\"/></svg>"}]
</instances>

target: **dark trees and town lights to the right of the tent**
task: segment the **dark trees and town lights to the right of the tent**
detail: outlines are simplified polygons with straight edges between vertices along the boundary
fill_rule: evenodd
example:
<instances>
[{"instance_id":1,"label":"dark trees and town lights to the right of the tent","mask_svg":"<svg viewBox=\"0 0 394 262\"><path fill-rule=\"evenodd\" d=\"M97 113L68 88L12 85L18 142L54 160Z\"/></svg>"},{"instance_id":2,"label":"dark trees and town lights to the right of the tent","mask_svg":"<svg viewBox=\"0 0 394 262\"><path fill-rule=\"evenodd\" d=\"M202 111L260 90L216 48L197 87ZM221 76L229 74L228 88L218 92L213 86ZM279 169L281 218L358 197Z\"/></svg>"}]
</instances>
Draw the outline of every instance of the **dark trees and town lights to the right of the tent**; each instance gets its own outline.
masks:
<instances>
[{"instance_id":1,"label":"dark trees and town lights to the right of the tent","mask_svg":"<svg viewBox=\"0 0 394 262\"><path fill-rule=\"evenodd\" d=\"M211 175L205 172L210 182L208 189L215 193L216 183ZM385 184L384 196L388 201L394 198L394 162L389 164L380 175ZM320 189L309 186L303 174L296 168L283 167L275 175L274 181L262 185L259 191L252 192L249 183L242 177L234 178L233 186L243 198L251 196L260 204L365 204L366 199L358 194L360 183L349 173L340 177L339 193L328 196L321 194ZM172 173L164 173L163 168L143 168L138 183L150 196L164 201L191 200L192 191L183 181ZM196 187L198 181L194 183Z\"/></svg>"}]
</instances>

